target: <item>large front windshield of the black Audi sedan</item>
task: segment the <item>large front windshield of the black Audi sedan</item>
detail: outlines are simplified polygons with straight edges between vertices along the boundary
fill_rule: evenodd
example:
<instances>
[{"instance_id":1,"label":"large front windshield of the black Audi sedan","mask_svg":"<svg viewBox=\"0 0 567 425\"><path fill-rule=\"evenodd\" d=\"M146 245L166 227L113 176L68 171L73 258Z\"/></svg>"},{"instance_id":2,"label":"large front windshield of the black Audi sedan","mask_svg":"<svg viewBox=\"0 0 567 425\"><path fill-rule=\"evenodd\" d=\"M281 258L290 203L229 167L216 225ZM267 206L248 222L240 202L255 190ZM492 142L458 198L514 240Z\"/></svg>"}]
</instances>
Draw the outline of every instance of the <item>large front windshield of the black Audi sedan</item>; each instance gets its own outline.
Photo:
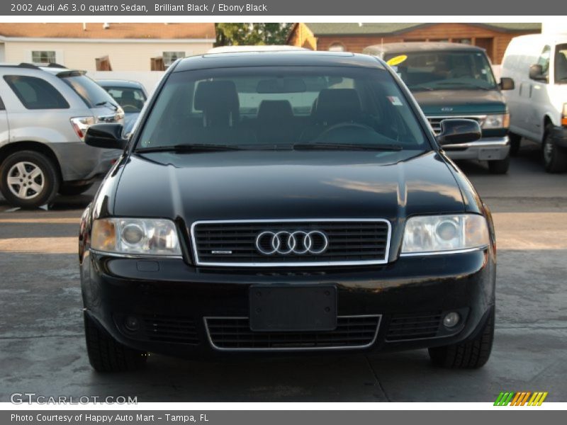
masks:
<instances>
[{"instance_id":1,"label":"large front windshield of the black Audi sedan","mask_svg":"<svg viewBox=\"0 0 567 425\"><path fill-rule=\"evenodd\" d=\"M191 144L293 149L308 143L430 148L384 69L245 67L173 73L137 149Z\"/></svg>"}]
</instances>

